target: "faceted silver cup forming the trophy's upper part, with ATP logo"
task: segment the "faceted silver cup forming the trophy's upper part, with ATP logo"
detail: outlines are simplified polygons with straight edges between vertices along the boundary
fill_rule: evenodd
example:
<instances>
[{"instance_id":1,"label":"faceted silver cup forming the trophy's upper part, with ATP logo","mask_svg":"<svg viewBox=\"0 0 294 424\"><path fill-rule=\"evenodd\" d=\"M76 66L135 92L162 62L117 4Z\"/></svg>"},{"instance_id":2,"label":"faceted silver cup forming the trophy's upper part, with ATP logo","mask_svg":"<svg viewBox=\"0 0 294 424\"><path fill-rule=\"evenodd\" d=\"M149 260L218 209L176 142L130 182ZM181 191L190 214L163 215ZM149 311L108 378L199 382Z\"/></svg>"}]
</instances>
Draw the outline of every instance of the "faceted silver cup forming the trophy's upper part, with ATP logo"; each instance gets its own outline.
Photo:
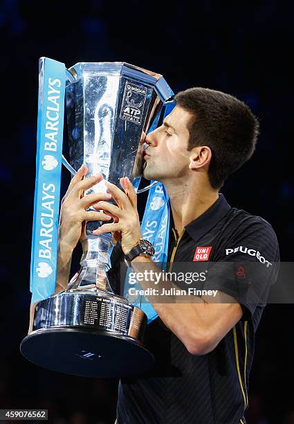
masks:
<instances>
[{"instance_id":1,"label":"faceted silver cup forming the trophy's upper part, with ATP logo","mask_svg":"<svg viewBox=\"0 0 294 424\"><path fill-rule=\"evenodd\" d=\"M102 173L118 185L120 177L142 175L144 133L163 103L173 96L160 74L122 62L77 63L75 82L66 86L70 163L84 163L89 175ZM100 182L94 191L104 191Z\"/></svg>"}]
</instances>

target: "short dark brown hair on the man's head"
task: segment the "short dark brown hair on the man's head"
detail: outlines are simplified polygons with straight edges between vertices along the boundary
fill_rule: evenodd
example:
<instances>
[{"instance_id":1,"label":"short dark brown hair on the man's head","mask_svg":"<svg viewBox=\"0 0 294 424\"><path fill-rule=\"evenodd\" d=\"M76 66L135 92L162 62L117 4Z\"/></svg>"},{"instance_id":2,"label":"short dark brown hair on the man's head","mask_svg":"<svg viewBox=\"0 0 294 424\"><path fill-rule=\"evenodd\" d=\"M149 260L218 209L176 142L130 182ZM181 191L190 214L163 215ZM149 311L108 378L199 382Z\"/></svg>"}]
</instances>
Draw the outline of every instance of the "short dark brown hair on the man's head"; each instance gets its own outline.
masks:
<instances>
[{"instance_id":1,"label":"short dark brown hair on the man's head","mask_svg":"<svg viewBox=\"0 0 294 424\"><path fill-rule=\"evenodd\" d=\"M207 145L212 150L208 177L221 188L228 175L240 168L255 150L259 123L249 107L230 94L194 87L180 91L176 105L193 114L188 150Z\"/></svg>"}]
</instances>

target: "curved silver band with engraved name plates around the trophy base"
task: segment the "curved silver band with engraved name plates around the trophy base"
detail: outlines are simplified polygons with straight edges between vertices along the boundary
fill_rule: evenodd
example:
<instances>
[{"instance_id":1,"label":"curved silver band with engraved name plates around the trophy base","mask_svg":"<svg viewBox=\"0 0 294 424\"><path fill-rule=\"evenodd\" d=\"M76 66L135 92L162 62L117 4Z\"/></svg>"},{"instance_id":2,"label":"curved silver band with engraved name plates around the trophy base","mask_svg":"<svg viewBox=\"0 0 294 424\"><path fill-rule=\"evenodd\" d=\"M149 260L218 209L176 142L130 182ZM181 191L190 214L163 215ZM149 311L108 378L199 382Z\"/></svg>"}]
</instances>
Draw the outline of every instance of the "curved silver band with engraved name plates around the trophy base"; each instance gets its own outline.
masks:
<instances>
[{"instance_id":1,"label":"curved silver band with engraved name plates around the trophy base","mask_svg":"<svg viewBox=\"0 0 294 424\"><path fill-rule=\"evenodd\" d=\"M66 290L35 308L33 331L56 326L111 331L140 341L146 317L123 297L96 290Z\"/></svg>"}]
</instances>

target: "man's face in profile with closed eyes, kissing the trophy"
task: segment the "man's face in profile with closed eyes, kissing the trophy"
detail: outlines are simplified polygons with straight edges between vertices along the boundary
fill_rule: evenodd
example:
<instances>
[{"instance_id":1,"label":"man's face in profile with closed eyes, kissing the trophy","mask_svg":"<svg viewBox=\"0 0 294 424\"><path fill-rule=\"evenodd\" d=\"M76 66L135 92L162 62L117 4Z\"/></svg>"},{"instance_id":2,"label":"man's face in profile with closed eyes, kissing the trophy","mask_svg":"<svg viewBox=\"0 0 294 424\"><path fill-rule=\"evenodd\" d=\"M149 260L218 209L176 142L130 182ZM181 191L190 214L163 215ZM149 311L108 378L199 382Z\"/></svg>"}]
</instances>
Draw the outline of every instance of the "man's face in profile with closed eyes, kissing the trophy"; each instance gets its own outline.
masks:
<instances>
[{"instance_id":1,"label":"man's face in profile with closed eyes, kissing the trophy","mask_svg":"<svg viewBox=\"0 0 294 424\"><path fill-rule=\"evenodd\" d=\"M176 106L165 118L163 125L147 134L145 143L144 177L164 182L166 179L185 177L189 169L190 152L187 150L187 125L192 114Z\"/></svg>"}]
</instances>

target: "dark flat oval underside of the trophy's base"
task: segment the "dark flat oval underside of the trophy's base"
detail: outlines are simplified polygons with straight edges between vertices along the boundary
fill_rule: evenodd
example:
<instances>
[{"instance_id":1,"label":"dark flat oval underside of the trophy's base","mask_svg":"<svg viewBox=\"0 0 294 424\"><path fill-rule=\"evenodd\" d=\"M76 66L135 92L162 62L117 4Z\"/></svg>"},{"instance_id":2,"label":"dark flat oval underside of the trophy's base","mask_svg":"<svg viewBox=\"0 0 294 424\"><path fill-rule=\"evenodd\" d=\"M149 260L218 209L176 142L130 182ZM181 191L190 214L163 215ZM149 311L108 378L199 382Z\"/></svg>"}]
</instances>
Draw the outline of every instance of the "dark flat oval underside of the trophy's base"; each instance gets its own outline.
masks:
<instances>
[{"instance_id":1,"label":"dark flat oval underside of the trophy's base","mask_svg":"<svg viewBox=\"0 0 294 424\"><path fill-rule=\"evenodd\" d=\"M137 340L89 328L35 330L21 342L21 353L46 369L83 377L142 376L154 365Z\"/></svg>"}]
</instances>

